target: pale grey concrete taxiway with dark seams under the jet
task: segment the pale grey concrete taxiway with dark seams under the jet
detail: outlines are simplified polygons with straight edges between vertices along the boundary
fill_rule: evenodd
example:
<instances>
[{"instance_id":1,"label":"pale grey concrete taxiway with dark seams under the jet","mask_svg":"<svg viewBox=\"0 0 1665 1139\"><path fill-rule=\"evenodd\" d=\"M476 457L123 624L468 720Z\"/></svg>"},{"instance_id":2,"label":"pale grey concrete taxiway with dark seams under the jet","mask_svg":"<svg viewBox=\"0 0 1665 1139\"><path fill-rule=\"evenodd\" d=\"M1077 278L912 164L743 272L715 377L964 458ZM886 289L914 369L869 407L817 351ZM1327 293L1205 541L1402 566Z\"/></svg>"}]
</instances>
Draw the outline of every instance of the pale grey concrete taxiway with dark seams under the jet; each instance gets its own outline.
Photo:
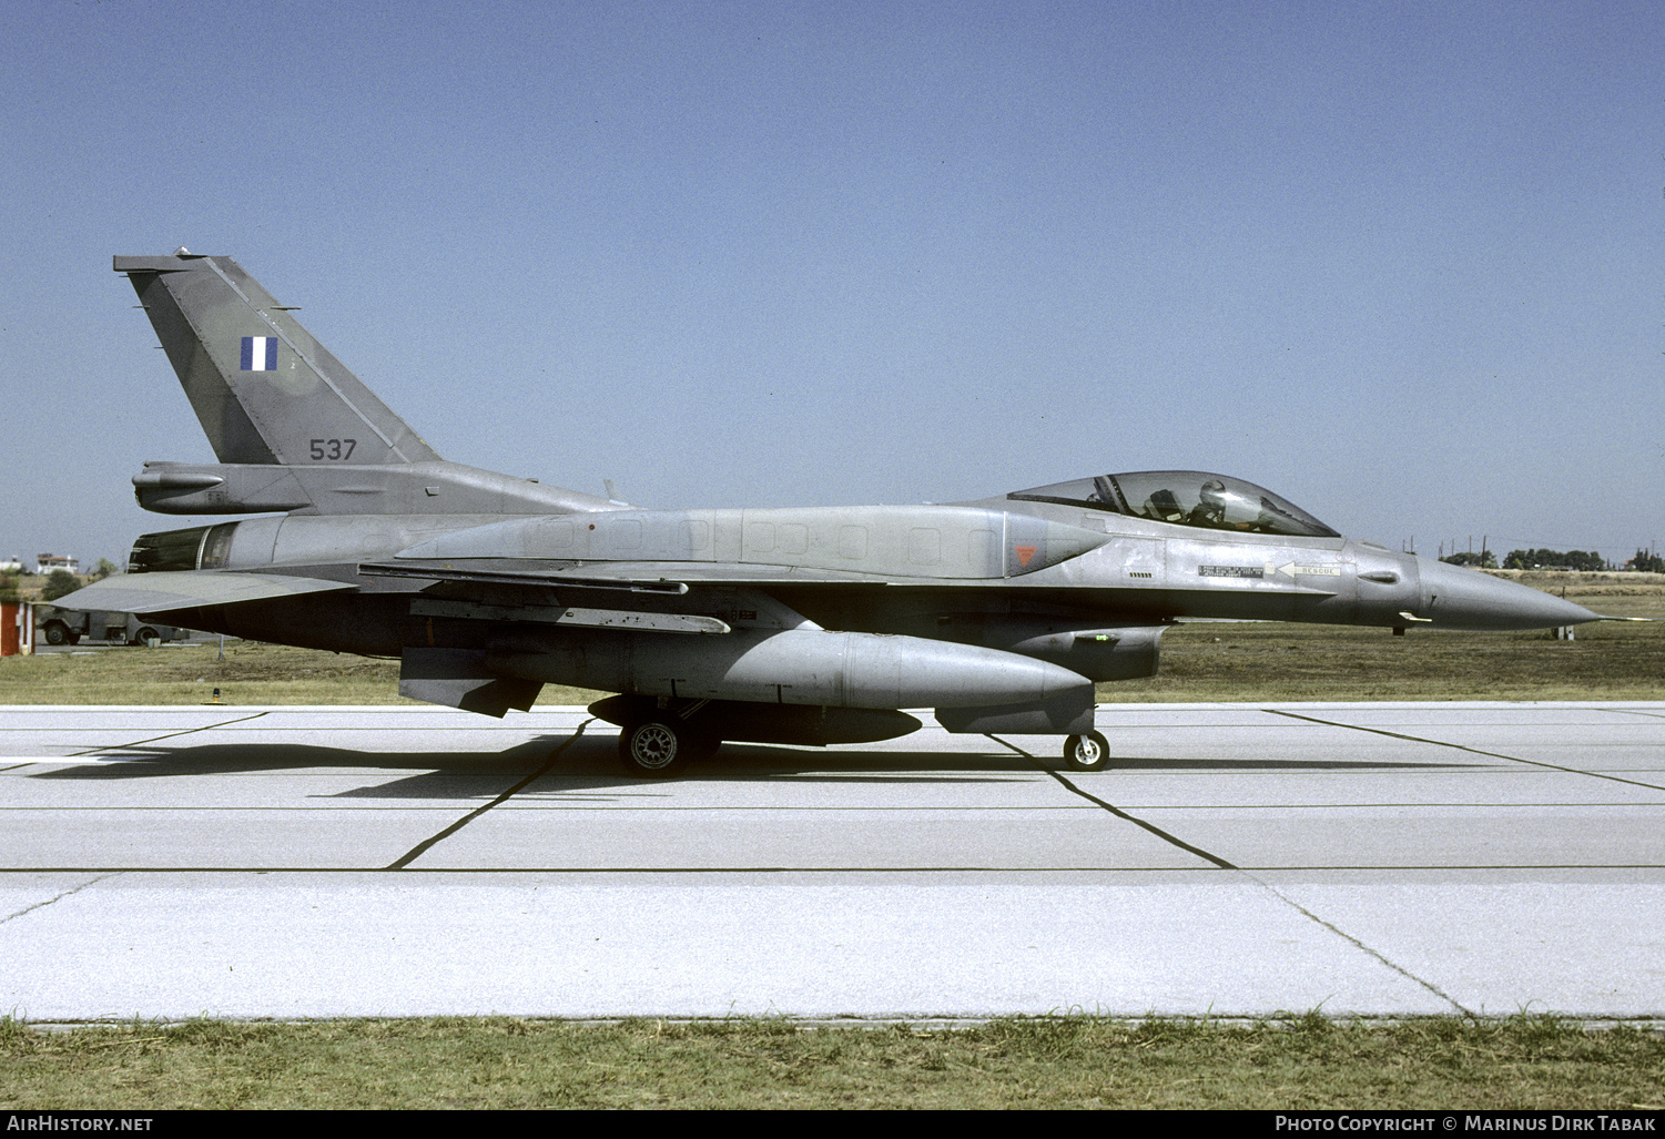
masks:
<instances>
[{"instance_id":1,"label":"pale grey concrete taxiway with dark seams under the jet","mask_svg":"<svg viewBox=\"0 0 1665 1139\"><path fill-rule=\"evenodd\" d=\"M0 1009L1665 1016L1665 703L1099 724L653 783L583 709L0 708Z\"/></svg>"}]
</instances>

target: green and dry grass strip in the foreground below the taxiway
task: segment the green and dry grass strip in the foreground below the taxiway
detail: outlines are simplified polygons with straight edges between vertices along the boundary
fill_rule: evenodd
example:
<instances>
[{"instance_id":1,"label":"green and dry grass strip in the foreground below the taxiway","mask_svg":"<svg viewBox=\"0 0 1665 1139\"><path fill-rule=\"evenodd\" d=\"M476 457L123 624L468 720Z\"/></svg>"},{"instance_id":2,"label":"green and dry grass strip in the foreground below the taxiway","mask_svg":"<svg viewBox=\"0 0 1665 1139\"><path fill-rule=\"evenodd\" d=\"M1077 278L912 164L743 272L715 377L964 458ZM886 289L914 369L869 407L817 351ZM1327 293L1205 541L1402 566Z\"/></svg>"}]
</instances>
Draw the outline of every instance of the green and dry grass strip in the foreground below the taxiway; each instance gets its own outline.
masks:
<instances>
[{"instance_id":1,"label":"green and dry grass strip in the foreground below the taxiway","mask_svg":"<svg viewBox=\"0 0 1665 1139\"><path fill-rule=\"evenodd\" d=\"M511 1017L0 1019L8 1109L1232 1107L1658 1111L1665 1039L1548 1017L1001 1019L966 1029Z\"/></svg>"}]
</instances>

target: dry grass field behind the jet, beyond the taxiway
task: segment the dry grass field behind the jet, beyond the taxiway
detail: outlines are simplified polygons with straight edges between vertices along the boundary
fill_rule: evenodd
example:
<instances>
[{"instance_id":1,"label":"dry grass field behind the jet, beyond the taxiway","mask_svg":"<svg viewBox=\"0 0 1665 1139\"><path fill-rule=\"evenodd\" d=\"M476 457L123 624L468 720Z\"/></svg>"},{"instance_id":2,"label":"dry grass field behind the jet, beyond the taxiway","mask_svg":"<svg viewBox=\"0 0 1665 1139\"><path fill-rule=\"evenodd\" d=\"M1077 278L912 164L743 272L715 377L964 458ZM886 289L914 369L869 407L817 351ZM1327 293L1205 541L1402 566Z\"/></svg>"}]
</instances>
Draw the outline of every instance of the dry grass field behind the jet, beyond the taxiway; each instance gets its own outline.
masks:
<instances>
[{"instance_id":1,"label":"dry grass field behind the jet, beyond the taxiway","mask_svg":"<svg viewBox=\"0 0 1665 1139\"><path fill-rule=\"evenodd\" d=\"M1520 576L1520 574L1508 574ZM1548 633L1185 623L1162 638L1162 671L1099 686L1104 703L1312 699L1665 699L1665 576L1527 574L1598 613L1660 623ZM390 704L398 661L228 641L90 648L0 659L0 704ZM548 686L539 704L599 693Z\"/></svg>"}]
</instances>

